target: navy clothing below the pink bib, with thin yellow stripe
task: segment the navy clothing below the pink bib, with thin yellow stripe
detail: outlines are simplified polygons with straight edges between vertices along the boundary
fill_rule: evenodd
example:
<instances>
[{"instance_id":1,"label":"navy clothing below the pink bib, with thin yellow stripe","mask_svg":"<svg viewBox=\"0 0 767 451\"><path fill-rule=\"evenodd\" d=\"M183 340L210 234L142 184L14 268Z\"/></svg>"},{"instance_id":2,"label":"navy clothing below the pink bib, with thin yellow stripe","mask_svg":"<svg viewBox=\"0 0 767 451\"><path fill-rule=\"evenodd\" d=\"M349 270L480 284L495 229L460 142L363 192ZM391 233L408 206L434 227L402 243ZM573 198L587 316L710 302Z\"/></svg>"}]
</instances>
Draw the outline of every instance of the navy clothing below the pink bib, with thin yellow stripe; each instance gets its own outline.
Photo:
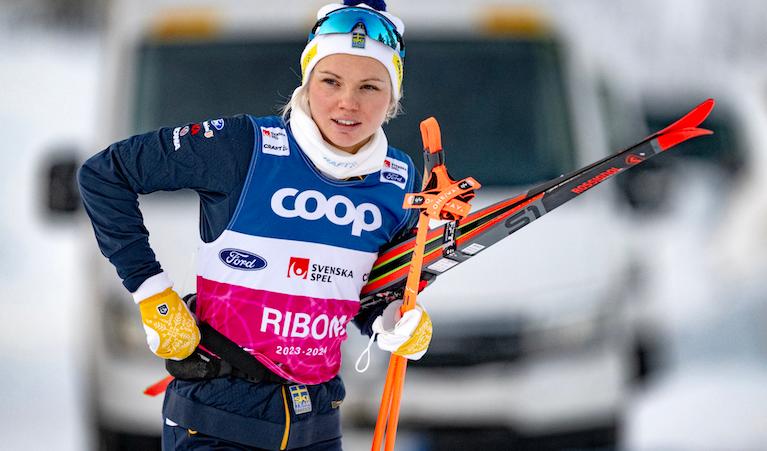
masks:
<instances>
[{"instance_id":1,"label":"navy clothing below the pink bib, with thin yellow stripe","mask_svg":"<svg viewBox=\"0 0 767 451\"><path fill-rule=\"evenodd\" d=\"M165 393L163 449L340 450L345 395L337 376L306 386L176 379Z\"/></svg>"}]
</instances>

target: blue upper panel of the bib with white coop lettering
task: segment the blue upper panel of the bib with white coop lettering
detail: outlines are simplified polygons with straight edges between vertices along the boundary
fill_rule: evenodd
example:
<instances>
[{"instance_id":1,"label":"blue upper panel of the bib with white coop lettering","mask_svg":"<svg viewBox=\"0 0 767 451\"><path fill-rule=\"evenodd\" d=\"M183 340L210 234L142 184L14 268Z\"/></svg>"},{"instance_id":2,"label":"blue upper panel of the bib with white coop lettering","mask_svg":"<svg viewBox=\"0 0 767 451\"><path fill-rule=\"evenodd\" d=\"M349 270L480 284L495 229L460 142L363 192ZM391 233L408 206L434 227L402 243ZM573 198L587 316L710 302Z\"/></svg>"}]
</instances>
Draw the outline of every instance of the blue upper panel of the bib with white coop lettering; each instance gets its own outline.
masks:
<instances>
[{"instance_id":1,"label":"blue upper panel of the bib with white coop lettering","mask_svg":"<svg viewBox=\"0 0 767 451\"><path fill-rule=\"evenodd\" d=\"M303 154L282 118L251 120L253 162L229 229L377 252L407 222L402 203L413 191L415 168L403 152L389 147L387 166L364 180L331 180Z\"/></svg>"}]
</instances>

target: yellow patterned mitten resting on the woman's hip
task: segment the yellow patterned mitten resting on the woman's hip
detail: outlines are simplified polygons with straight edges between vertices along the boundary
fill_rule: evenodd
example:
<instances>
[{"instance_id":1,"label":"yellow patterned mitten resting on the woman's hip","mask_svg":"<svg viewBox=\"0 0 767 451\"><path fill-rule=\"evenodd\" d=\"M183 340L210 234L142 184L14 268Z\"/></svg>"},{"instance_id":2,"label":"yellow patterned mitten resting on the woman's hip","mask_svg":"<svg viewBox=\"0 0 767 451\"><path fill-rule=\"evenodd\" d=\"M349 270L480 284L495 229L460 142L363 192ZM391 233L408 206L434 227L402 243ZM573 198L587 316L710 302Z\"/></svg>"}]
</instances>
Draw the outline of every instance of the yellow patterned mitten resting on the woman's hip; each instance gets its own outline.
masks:
<instances>
[{"instance_id":1,"label":"yellow patterned mitten resting on the woman's hip","mask_svg":"<svg viewBox=\"0 0 767 451\"><path fill-rule=\"evenodd\" d=\"M163 359L183 360L200 343L200 329L184 301L168 288L139 302L149 349Z\"/></svg>"}]
</instances>

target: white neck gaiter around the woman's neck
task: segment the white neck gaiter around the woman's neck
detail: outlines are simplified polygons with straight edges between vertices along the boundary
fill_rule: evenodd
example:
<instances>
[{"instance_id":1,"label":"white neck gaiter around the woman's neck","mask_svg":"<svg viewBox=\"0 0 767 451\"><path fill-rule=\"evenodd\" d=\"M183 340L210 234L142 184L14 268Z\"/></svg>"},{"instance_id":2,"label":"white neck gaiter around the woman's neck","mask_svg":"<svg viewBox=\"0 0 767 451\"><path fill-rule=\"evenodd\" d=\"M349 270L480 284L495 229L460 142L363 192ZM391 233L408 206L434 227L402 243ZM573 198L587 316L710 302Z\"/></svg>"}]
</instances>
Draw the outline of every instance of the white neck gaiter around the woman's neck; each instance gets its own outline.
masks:
<instances>
[{"instance_id":1,"label":"white neck gaiter around the woman's neck","mask_svg":"<svg viewBox=\"0 0 767 451\"><path fill-rule=\"evenodd\" d=\"M306 106L295 101L296 95L293 93L294 101L291 102L290 130L301 150L320 172L330 178L343 180L381 170L389 146L381 127L356 154L344 152L325 141L317 124L306 111Z\"/></svg>"}]
</instances>

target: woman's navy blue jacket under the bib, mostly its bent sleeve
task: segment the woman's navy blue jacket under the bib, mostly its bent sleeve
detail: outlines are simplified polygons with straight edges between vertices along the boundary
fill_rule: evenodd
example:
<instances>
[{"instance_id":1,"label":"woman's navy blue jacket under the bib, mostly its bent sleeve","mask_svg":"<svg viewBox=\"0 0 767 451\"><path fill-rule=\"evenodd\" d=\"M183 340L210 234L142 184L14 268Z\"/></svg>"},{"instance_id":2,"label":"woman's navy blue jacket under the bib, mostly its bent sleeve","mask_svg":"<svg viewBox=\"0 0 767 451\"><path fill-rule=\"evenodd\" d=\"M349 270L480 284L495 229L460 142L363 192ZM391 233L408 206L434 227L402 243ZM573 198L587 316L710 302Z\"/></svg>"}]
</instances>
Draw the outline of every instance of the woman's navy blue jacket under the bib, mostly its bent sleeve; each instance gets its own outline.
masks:
<instances>
[{"instance_id":1,"label":"woman's navy blue jacket under the bib, mostly its bent sleeve","mask_svg":"<svg viewBox=\"0 0 767 451\"><path fill-rule=\"evenodd\" d=\"M212 122L133 136L97 153L80 168L80 193L99 248L131 292L162 271L149 247L139 194L196 191L200 237L206 243L224 231L234 214L253 152L253 124L245 115L224 119L220 129ZM206 132L212 136L206 137ZM402 232L416 220L413 215ZM374 313L378 312L365 311L366 318L355 319L363 333L370 334L368 319Z\"/></svg>"}]
</instances>

